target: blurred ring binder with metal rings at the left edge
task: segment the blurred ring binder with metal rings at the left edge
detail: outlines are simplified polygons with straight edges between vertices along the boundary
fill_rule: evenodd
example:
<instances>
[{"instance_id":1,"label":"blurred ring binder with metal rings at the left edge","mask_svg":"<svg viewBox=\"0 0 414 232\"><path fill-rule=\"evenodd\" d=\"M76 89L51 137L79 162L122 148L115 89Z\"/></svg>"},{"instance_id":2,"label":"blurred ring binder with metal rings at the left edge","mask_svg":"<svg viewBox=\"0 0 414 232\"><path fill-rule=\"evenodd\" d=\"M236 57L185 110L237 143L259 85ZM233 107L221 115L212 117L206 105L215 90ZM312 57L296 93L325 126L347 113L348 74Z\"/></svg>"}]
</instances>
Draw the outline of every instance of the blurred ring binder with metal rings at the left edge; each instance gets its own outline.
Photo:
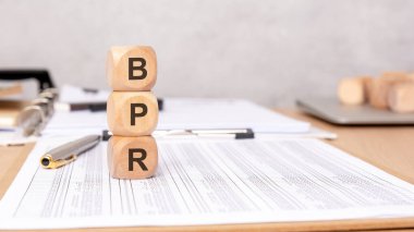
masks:
<instances>
[{"instance_id":1,"label":"blurred ring binder with metal rings at the left edge","mask_svg":"<svg viewBox=\"0 0 414 232\"><path fill-rule=\"evenodd\" d=\"M53 87L47 70L0 70L0 131L17 126L25 136L37 133L53 112Z\"/></svg>"}]
</instances>

